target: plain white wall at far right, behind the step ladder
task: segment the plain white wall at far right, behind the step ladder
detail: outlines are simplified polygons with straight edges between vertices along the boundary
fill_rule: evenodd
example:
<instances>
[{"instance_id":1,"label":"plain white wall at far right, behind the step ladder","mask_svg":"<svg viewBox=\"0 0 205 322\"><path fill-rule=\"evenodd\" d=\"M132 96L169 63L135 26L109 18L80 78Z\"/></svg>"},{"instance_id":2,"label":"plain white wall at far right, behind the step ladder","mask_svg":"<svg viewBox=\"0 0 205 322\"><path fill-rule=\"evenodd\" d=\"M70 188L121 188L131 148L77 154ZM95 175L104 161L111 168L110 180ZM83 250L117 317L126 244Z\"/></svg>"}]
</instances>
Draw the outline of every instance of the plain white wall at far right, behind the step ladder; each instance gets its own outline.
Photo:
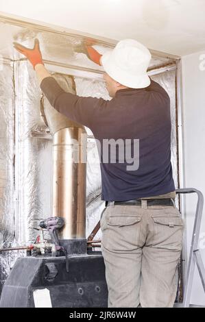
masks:
<instances>
[{"instance_id":1,"label":"plain white wall at far right, behind the step ladder","mask_svg":"<svg viewBox=\"0 0 205 322\"><path fill-rule=\"evenodd\" d=\"M205 51L182 57L182 99L184 113L184 188L197 188L205 199ZM187 242L191 243L197 197L186 196ZM205 203L200 233L205 265ZM205 306L200 277L195 271L191 304Z\"/></svg>"}]
</instances>

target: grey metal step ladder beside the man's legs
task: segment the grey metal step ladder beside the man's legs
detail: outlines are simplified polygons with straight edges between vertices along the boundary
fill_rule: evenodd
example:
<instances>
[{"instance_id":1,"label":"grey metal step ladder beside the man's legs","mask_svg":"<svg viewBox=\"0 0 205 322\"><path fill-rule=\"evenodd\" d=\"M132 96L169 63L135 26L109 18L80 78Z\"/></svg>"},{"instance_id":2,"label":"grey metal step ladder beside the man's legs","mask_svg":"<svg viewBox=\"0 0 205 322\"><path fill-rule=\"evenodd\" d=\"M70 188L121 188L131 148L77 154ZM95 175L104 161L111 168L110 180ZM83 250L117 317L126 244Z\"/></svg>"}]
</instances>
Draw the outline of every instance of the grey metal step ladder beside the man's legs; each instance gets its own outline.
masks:
<instances>
[{"instance_id":1,"label":"grey metal step ladder beside the man's legs","mask_svg":"<svg viewBox=\"0 0 205 322\"><path fill-rule=\"evenodd\" d=\"M195 212L195 221L193 225L193 235L191 240L191 249L189 253L189 262L188 267L183 277L184 284L184 294L183 294L183 303L182 308L189 308L191 301L191 289L193 286L193 275L195 270L195 264L197 265L197 269L200 273L200 279L202 281L202 286L204 288L205 293L205 268L204 263L202 261L202 256L200 254L200 249L198 249L198 243L200 238L200 227L202 222L202 212L204 206L204 197L200 190L195 188L181 188L176 190L177 194L185 194L185 193L196 193L197 194L197 208Z\"/></svg>"}]
</instances>

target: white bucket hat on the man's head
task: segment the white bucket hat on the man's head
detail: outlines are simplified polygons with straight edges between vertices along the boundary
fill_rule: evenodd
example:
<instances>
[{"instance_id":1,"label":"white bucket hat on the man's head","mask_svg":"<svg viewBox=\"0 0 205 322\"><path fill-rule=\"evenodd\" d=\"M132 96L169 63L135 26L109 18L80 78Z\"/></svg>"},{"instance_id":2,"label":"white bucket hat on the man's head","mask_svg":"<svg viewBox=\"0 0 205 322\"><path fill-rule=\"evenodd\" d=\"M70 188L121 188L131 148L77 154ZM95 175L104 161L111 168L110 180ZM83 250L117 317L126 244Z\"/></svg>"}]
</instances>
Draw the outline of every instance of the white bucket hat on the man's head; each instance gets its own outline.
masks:
<instances>
[{"instance_id":1,"label":"white bucket hat on the man's head","mask_svg":"<svg viewBox=\"0 0 205 322\"><path fill-rule=\"evenodd\" d=\"M134 39L125 39L101 56L106 73L123 86L145 88L150 85L147 68L152 58L150 51Z\"/></svg>"}]
</instances>

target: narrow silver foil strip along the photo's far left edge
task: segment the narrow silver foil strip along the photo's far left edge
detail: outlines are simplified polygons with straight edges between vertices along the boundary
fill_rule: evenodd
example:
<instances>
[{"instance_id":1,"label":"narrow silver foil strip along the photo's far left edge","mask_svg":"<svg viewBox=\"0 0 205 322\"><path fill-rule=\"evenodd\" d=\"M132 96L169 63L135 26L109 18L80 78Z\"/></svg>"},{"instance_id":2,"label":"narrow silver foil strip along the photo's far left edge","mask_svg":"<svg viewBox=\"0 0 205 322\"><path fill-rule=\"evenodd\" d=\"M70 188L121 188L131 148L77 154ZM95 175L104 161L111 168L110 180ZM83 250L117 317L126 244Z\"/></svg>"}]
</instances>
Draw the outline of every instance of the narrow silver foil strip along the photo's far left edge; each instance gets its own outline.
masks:
<instances>
[{"instance_id":1,"label":"narrow silver foil strip along the photo's far left edge","mask_svg":"<svg viewBox=\"0 0 205 322\"><path fill-rule=\"evenodd\" d=\"M12 64L0 72L0 248L15 243L14 227L14 83ZM0 255L0 290L16 256Z\"/></svg>"}]
</instances>

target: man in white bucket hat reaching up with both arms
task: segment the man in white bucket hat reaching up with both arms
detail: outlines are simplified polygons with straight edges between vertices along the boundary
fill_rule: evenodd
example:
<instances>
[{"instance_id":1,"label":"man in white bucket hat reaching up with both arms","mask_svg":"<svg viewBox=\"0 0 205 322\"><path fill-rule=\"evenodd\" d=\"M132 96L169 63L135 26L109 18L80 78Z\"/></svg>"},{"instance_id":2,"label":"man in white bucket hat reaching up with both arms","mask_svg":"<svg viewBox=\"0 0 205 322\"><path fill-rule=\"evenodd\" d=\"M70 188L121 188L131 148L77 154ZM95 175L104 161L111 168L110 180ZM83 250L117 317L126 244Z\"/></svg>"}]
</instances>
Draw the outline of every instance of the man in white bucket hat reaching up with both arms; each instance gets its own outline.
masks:
<instances>
[{"instance_id":1,"label":"man in white bucket hat reaching up with both arms","mask_svg":"<svg viewBox=\"0 0 205 322\"><path fill-rule=\"evenodd\" d=\"M32 62L53 108L90 127L101 147L108 140L120 139L119 150L125 144L123 153L110 151L106 162L99 149L108 307L172 307L184 223L174 203L170 99L147 75L149 50L132 39L121 40L104 55L85 47L88 58L106 71L112 99L105 101L64 92L45 69L38 40L34 49L14 47ZM126 148L133 158L125 158ZM111 160L114 153L117 162ZM130 160L138 160L138 166L130 166Z\"/></svg>"}]
</instances>

